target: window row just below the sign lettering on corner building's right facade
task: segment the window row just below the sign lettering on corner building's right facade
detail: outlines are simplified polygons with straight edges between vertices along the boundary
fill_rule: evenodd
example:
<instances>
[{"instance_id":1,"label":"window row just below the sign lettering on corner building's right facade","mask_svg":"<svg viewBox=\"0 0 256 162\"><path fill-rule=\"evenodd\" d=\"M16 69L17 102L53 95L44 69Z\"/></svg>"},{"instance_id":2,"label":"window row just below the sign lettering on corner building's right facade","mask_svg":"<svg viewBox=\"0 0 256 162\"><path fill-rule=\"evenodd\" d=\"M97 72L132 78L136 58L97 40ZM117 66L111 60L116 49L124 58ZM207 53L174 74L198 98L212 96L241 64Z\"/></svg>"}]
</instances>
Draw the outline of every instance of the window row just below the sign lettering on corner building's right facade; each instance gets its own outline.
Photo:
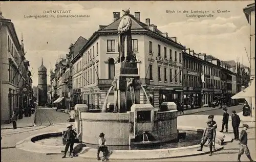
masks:
<instances>
[{"instance_id":1,"label":"window row just below the sign lettering on corner building's right facade","mask_svg":"<svg viewBox=\"0 0 256 162\"><path fill-rule=\"evenodd\" d=\"M162 80L162 74L163 74L163 80ZM168 78L167 74L169 74L169 76L168 76L169 79L167 79ZM167 70L167 67L163 67L163 72L162 72L162 66L158 66L158 81L178 83L178 77L179 77L179 83L182 84L181 76L182 76L181 70L178 72L178 70L175 69L174 75L173 75L173 68L169 68L169 70ZM150 79L153 80L153 65L152 64L150 64Z\"/></svg>"}]
</instances>

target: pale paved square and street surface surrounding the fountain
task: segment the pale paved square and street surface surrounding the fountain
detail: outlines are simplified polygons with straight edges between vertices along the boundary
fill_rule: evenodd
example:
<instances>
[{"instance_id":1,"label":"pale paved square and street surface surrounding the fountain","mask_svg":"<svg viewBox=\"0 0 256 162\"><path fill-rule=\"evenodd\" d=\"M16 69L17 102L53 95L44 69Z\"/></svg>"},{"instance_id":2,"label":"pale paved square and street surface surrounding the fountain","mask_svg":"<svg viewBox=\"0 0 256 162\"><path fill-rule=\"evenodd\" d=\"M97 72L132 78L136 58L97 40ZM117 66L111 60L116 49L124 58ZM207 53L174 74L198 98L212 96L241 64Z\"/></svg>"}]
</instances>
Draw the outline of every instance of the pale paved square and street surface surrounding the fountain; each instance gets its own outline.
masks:
<instances>
[{"instance_id":1,"label":"pale paved square and street surface surrounding the fountain","mask_svg":"<svg viewBox=\"0 0 256 162\"><path fill-rule=\"evenodd\" d=\"M55 155L46 155L40 153L33 153L27 152L24 150L20 150L15 148L15 144L19 141L24 140L26 137L35 135L38 133L44 132L53 132L58 131L60 128L64 128L68 119L68 114L63 113L61 111L55 111L53 109L42 109L43 111L39 110L37 112L45 113L48 119L51 119L52 124L49 125L46 122L43 122L41 126L35 127L27 127L27 128L18 128L17 130L12 129L2 129L1 134L3 140L1 142L1 156L2 161L98 161L96 159L86 159L82 157L74 157L74 158L61 158L60 154ZM228 108L228 112L230 113L232 110L236 110L237 112L241 112L242 105L233 106ZM195 111L195 110L194 110ZM187 110L187 114L181 115L177 119L178 127L179 126L191 126L191 127L198 127L202 128L205 126L205 121L209 114L215 115L215 121L218 124L218 131L221 128L221 120L222 120L222 113L223 111L219 108L210 109L208 111L204 111L202 108L197 109L198 112L193 112L193 114L189 114L189 110ZM56 118L53 118L53 115L56 115ZM54 119L54 120L53 120ZM63 124L61 124L63 123ZM233 136L231 132L231 122L229 122L229 132L230 136ZM255 148L255 122L241 122L247 123L250 126L248 130L248 147L251 152L251 156L253 159L256 158L256 148ZM241 128L240 128L241 130ZM106 134L107 138L107 134ZM208 149L208 148L207 148ZM147 161L236 161L237 155L239 151L238 141L234 141L232 143L226 143L224 149L218 152L215 152L213 156L205 155L198 155L198 156L191 156L191 157L182 157L182 158L168 158L168 159L155 159L155 160L147 160ZM95 155L96 158L96 155ZM146 157L145 157L146 158ZM242 161L248 161L247 157L244 155L241 158ZM116 160L115 160L116 161ZM133 160L134 161L134 160Z\"/></svg>"}]
</instances>

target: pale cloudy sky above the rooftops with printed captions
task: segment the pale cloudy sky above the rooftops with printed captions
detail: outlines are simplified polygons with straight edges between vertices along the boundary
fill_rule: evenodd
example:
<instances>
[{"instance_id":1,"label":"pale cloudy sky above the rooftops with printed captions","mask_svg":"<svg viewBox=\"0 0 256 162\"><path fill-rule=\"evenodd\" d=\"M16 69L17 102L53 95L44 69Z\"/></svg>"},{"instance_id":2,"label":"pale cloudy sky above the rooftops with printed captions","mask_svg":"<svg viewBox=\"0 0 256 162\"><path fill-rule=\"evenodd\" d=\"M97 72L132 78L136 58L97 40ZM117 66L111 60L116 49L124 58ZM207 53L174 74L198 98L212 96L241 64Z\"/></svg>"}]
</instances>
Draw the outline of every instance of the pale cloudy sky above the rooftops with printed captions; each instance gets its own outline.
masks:
<instances>
[{"instance_id":1,"label":"pale cloudy sky above the rooftops with printed captions","mask_svg":"<svg viewBox=\"0 0 256 162\"><path fill-rule=\"evenodd\" d=\"M140 12L140 21L151 24L169 37L196 53L206 53L220 60L235 60L249 66L249 25L243 13L254 1L88 1L88 2L0 2L3 16L11 19L21 39L23 33L26 59L30 61L33 85L37 85L37 68L41 57L48 69L58 58L66 56L69 46L79 36L89 39L99 25L113 22L113 12L130 8L131 14ZM89 15L82 18L56 18L50 10L67 10L66 15ZM166 12L168 10L168 13ZM181 13L178 13L180 11ZM191 17L194 12L209 11L211 17ZM219 11L219 12L218 12ZM220 13L220 11L223 11ZM226 12L224 12L226 11ZM187 13L186 13L187 12ZM200 13L197 13L200 14ZM46 18L26 18L48 15ZM54 15L55 18L50 18Z\"/></svg>"}]
</instances>

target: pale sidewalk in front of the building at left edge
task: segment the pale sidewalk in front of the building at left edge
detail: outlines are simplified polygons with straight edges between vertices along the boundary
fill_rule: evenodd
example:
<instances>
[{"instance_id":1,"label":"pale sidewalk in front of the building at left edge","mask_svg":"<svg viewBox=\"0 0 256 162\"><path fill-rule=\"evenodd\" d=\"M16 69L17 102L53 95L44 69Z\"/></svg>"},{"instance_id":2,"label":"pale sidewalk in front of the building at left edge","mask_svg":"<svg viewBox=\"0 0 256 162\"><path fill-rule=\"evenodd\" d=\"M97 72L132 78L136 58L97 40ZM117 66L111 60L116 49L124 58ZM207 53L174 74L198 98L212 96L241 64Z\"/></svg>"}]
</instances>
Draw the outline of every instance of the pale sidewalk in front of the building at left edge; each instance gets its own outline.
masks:
<instances>
[{"instance_id":1,"label":"pale sidewalk in front of the building at left edge","mask_svg":"<svg viewBox=\"0 0 256 162\"><path fill-rule=\"evenodd\" d=\"M31 114L31 117L23 117L17 120L17 128L33 127L35 121L35 113ZM12 123L2 124L1 129L13 129Z\"/></svg>"}]
</instances>

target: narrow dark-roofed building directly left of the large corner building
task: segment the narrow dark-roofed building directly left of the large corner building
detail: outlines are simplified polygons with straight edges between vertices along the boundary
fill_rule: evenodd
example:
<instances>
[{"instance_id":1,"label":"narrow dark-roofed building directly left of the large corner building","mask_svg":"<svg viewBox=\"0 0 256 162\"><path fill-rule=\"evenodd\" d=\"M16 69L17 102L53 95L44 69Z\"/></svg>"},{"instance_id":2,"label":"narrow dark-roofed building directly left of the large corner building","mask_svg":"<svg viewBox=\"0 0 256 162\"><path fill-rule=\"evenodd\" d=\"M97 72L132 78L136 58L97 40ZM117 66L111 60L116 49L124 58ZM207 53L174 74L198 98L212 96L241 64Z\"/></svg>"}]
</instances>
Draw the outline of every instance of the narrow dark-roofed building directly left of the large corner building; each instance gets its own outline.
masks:
<instances>
[{"instance_id":1,"label":"narrow dark-roofed building directly left of the large corner building","mask_svg":"<svg viewBox=\"0 0 256 162\"><path fill-rule=\"evenodd\" d=\"M72 105L83 103L82 89L83 82L88 82L87 78L82 76L83 74L83 52L80 52L84 44L87 43L87 39L79 37L77 41L70 47L70 53L68 60L70 60L70 75L72 76Z\"/></svg>"}]
</instances>

